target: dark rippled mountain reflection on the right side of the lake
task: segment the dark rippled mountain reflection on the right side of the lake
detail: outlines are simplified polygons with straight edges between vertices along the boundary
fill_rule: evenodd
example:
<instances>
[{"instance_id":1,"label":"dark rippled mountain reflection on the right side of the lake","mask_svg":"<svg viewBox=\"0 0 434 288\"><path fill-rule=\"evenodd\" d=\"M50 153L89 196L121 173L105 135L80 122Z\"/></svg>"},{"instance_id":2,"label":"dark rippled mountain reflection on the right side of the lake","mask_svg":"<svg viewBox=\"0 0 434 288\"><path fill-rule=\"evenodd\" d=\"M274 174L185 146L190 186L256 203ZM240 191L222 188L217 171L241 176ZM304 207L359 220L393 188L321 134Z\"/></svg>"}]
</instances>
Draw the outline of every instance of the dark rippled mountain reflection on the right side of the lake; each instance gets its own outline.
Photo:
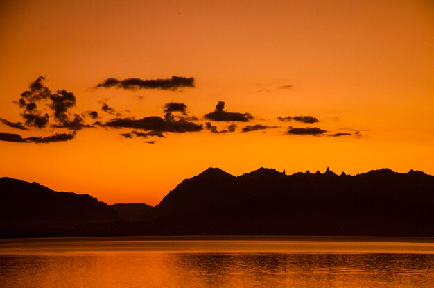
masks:
<instances>
[{"instance_id":1,"label":"dark rippled mountain reflection on the right side of the lake","mask_svg":"<svg viewBox=\"0 0 434 288\"><path fill-rule=\"evenodd\" d=\"M173 255L194 287L433 287L433 255L239 253ZM210 285L207 285L211 283ZM192 283L194 285L194 283Z\"/></svg>"}]
</instances>

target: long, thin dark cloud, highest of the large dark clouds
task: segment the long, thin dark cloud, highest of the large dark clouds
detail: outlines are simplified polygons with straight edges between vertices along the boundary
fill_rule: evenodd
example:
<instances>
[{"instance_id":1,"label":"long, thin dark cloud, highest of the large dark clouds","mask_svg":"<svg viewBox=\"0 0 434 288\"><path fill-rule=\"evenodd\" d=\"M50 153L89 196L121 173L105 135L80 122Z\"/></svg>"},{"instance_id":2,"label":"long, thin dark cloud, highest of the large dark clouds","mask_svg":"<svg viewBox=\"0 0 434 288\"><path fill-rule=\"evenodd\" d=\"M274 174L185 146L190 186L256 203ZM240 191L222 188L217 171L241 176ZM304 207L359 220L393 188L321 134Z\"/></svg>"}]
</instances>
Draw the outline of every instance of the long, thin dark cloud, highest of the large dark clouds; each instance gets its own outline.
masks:
<instances>
[{"instance_id":1,"label":"long, thin dark cloud, highest of the large dark clouds","mask_svg":"<svg viewBox=\"0 0 434 288\"><path fill-rule=\"evenodd\" d=\"M142 80L139 78L127 78L118 80L116 78L107 78L102 83L96 85L96 88L122 88L128 90L134 89L162 89L177 90L183 87L194 87L194 78L173 76L170 79Z\"/></svg>"}]
</instances>

